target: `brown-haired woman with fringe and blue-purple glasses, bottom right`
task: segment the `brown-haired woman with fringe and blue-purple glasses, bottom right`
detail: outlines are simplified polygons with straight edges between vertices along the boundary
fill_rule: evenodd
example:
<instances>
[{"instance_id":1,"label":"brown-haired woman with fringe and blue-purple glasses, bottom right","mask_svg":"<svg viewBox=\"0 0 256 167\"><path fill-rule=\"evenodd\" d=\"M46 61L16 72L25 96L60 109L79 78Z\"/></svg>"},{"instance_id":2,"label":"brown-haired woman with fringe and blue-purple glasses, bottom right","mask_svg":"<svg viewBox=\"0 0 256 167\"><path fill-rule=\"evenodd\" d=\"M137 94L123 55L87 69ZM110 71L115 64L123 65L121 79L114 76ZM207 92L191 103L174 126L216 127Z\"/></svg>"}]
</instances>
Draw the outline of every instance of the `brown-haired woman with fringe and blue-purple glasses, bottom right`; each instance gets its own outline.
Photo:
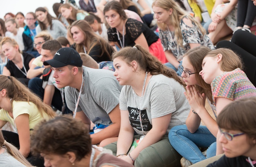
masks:
<instances>
[{"instance_id":1,"label":"brown-haired woman with fringe and blue-purple glasses, bottom right","mask_svg":"<svg viewBox=\"0 0 256 167\"><path fill-rule=\"evenodd\" d=\"M207 167L256 166L255 108L256 97L241 98L223 108L217 123L225 155Z\"/></svg>"}]
</instances>

